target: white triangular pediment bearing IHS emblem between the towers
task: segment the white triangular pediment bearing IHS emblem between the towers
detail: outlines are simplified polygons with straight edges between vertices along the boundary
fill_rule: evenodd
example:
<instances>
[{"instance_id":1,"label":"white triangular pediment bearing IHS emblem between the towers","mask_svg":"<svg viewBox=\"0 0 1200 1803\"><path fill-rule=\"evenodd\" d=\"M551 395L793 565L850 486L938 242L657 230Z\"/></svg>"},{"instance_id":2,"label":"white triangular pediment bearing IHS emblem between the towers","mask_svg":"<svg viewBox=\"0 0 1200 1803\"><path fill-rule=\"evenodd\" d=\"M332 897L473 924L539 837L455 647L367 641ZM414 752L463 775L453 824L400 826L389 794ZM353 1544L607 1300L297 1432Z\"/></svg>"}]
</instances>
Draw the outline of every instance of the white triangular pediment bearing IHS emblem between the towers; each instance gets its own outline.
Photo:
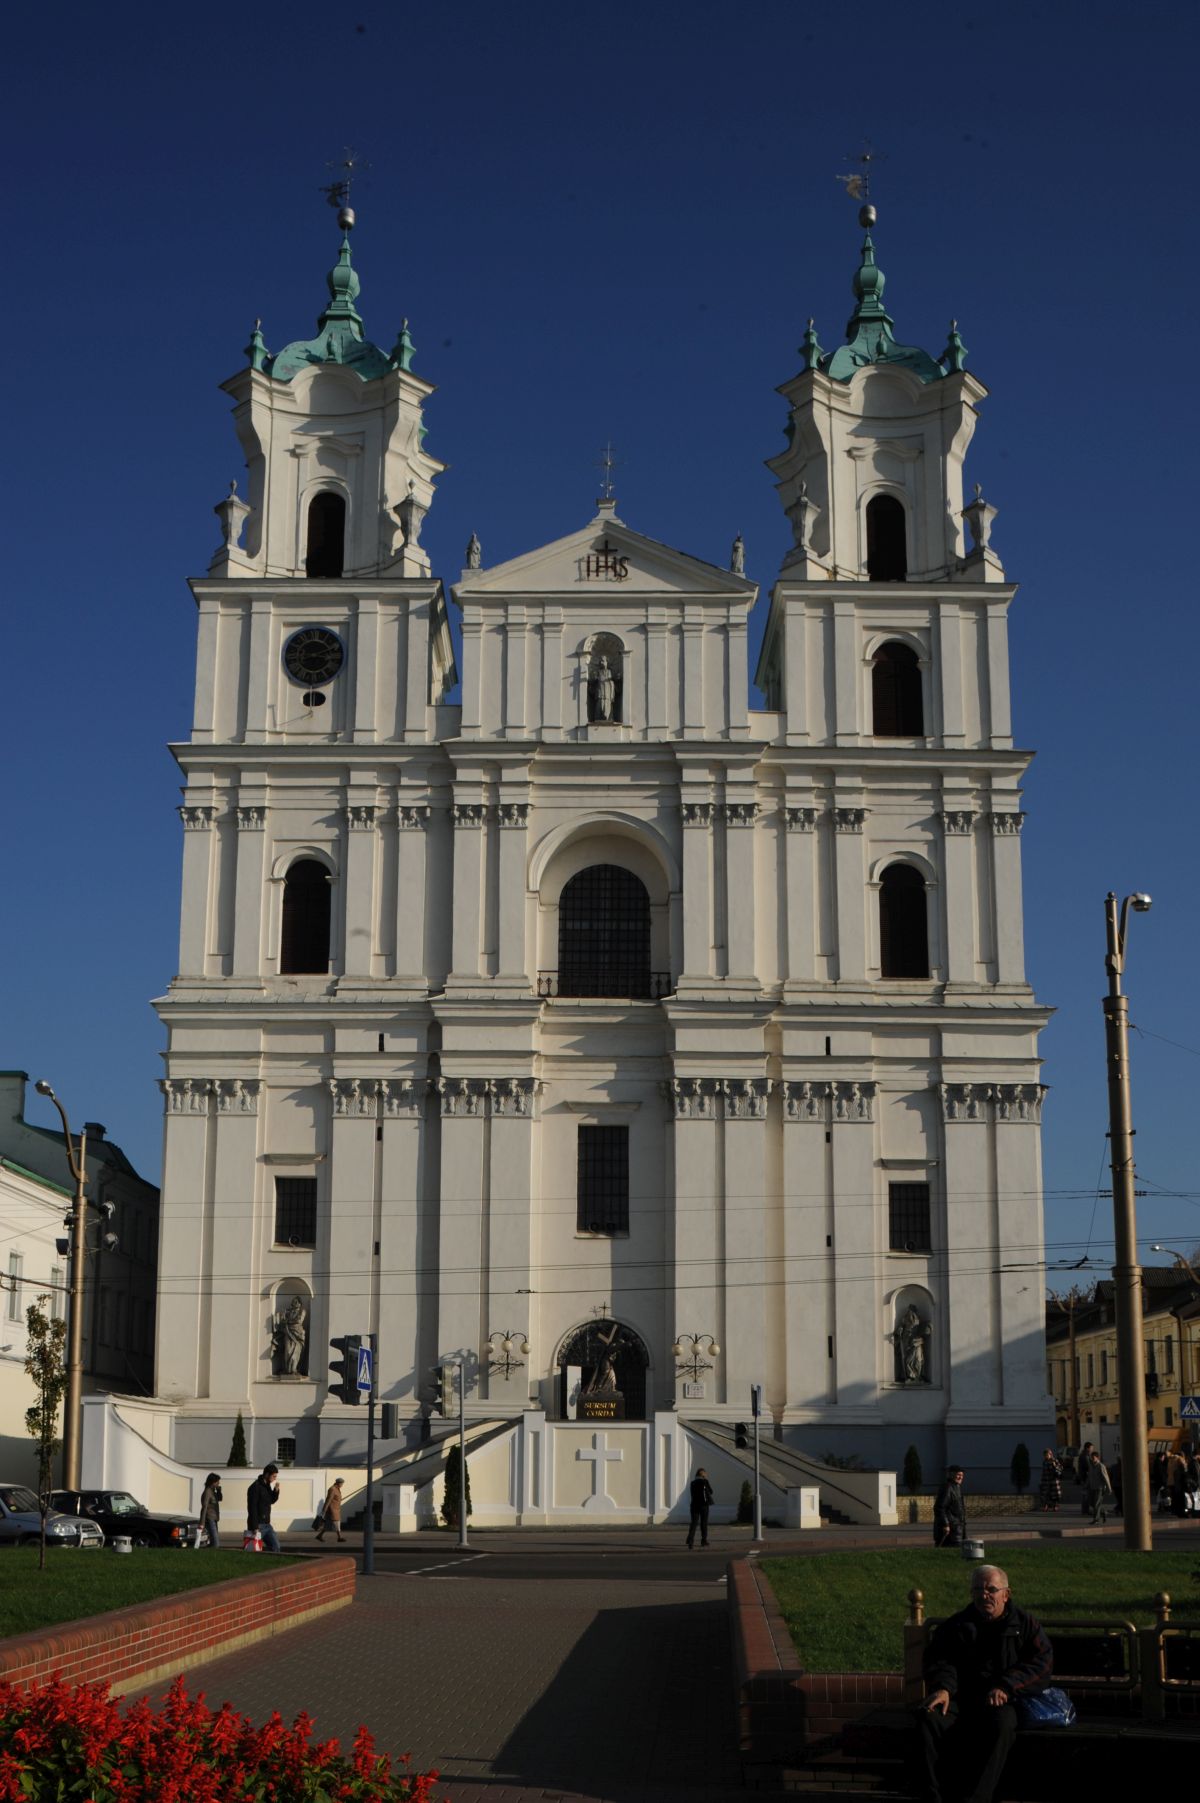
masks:
<instances>
[{"instance_id":1,"label":"white triangular pediment bearing IHS emblem between the towers","mask_svg":"<svg viewBox=\"0 0 1200 1803\"><path fill-rule=\"evenodd\" d=\"M463 570L452 593L461 606L492 599L515 600L521 595L591 600L598 590L641 600L661 595L724 604L750 604L757 595L757 584L744 575L688 557L604 512L582 530L510 557L508 563L490 570Z\"/></svg>"}]
</instances>

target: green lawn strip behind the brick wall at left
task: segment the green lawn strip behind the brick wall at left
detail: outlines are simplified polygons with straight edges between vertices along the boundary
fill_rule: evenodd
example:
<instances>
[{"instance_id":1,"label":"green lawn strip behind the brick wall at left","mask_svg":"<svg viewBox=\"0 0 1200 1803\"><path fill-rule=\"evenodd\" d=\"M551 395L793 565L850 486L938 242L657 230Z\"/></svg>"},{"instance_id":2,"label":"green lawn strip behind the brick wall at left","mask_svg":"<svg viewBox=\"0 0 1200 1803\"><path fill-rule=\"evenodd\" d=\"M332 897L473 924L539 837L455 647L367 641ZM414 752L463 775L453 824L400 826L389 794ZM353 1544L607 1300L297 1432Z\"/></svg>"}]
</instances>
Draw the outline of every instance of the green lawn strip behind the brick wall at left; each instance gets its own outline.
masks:
<instances>
[{"instance_id":1,"label":"green lawn strip behind the brick wall at left","mask_svg":"<svg viewBox=\"0 0 1200 1803\"><path fill-rule=\"evenodd\" d=\"M267 1565L261 1554L241 1551L191 1552L177 1547L137 1547L133 1552L76 1552L54 1547L38 1570L36 1547L0 1551L0 1637L81 1621L126 1603L150 1603L178 1590L198 1590L225 1578L245 1578ZM277 1563L277 1560L270 1560Z\"/></svg>"}]
</instances>

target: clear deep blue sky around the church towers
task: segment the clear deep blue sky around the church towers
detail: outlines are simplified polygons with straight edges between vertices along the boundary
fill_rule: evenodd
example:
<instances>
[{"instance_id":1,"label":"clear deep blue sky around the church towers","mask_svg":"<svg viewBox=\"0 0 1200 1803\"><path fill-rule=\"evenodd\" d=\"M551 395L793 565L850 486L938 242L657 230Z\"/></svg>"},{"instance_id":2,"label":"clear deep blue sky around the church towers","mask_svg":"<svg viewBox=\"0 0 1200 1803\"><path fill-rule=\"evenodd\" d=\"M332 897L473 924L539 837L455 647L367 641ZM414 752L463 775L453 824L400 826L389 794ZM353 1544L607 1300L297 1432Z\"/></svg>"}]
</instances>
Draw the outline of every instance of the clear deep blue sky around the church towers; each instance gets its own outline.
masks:
<instances>
[{"instance_id":1,"label":"clear deep blue sky around the church towers","mask_svg":"<svg viewBox=\"0 0 1200 1803\"><path fill-rule=\"evenodd\" d=\"M1106 1275L1105 894L1150 891L1126 988L1139 1237L1200 1244L1191 431L1200 11L1106 0L613 0L409 9L43 5L5 29L9 581L0 705L11 947L0 1064L160 1163L195 606L241 476L218 384L258 316L314 330L319 193L353 146L368 335L438 384L447 582L595 512L760 584L764 460L809 314L840 343L872 200L901 341L950 317L989 388L1043 1035L1047 1282ZM1189 725L1191 723L1191 725ZM29 1118L52 1125L29 1096ZM1068 1271L1088 1258L1077 1271Z\"/></svg>"}]
</instances>

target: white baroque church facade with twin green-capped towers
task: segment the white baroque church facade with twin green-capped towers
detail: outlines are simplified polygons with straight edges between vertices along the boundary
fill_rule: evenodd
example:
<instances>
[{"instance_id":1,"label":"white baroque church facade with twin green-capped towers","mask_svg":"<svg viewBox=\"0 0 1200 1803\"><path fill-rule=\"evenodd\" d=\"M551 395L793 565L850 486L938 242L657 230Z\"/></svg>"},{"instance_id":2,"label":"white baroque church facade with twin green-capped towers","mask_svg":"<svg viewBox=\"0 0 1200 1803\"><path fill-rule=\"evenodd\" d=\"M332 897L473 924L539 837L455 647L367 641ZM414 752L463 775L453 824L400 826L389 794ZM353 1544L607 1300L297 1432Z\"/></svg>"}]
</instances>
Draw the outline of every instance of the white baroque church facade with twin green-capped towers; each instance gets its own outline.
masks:
<instances>
[{"instance_id":1,"label":"white baroque church facade with twin green-capped towers","mask_svg":"<svg viewBox=\"0 0 1200 1803\"><path fill-rule=\"evenodd\" d=\"M330 1340L371 1332L380 1451L461 1359L468 1421L521 1441L517 1518L539 1457L564 1509L661 1513L688 1423L728 1432L751 1385L818 1459L1007 1473L1050 1419L1047 1013L957 332L895 341L868 233L847 343L809 328L782 389L793 548L751 671L741 545L714 568L611 498L510 563L472 537L447 597L431 386L357 294L346 236L317 335L256 328L245 498L193 582L173 1455L220 1464L241 1412L252 1462L360 1460Z\"/></svg>"}]
</instances>

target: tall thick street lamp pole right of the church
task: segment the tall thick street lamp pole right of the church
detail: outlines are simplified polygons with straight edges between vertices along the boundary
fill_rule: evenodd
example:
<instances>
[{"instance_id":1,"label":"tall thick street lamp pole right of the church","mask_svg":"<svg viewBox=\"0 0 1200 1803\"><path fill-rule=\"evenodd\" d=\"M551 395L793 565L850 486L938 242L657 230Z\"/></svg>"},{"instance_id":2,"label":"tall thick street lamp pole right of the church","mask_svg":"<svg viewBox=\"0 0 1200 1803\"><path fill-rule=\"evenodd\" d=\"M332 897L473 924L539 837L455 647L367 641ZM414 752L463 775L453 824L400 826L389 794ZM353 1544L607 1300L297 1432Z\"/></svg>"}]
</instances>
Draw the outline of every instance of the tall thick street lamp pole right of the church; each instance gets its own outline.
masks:
<instances>
[{"instance_id":1,"label":"tall thick street lamp pole right of the church","mask_svg":"<svg viewBox=\"0 0 1200 1803\"><path fill-rule=\"evenodd\" d=\"M1150 1552L1150 1462L1146 1448L1146 1354L1142 1347L1142 1271L1137 1262L1137 1204L1133 1201L1133 1109L1130 1103L1130 1004L1121 993L1124 930L1130 907L1144 914L1150 896L1126 896L1117 920L1117 898L1105 898L1108 995L1105 997L1105 1051L1108 1057L1108 1149L1112 1156L1112 1212L1117 1258L1112 1268L1117 1314L1117 1408L1121 1415L1121 1518L1132 1552Z\"/></svg>"}]
</instances>

